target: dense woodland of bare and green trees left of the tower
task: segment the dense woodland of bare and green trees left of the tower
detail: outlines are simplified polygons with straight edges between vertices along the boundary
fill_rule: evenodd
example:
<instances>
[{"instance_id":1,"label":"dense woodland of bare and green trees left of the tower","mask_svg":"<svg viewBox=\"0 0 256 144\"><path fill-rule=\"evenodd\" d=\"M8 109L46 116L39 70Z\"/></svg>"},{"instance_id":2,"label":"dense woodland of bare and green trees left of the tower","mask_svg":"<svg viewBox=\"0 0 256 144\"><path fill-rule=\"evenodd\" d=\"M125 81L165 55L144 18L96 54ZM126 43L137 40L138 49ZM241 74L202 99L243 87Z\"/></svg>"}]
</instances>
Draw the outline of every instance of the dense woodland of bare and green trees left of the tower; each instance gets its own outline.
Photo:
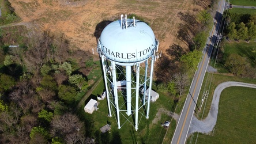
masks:
<instances>
[{"instance_id":1,"label":"dense woodland of bare and green trees left of the tower","mask_svg":"<svg viewBox=\"0 0 256 144\"><path fill-rule=\"evenodd\" d=\"M3 33L3 32L1 32ZM0 143L93 143L76 113L89 52L44 31L20 47L0 36ZM86 63L92 63L85 67Z\"/></svg>"}]
</instances>

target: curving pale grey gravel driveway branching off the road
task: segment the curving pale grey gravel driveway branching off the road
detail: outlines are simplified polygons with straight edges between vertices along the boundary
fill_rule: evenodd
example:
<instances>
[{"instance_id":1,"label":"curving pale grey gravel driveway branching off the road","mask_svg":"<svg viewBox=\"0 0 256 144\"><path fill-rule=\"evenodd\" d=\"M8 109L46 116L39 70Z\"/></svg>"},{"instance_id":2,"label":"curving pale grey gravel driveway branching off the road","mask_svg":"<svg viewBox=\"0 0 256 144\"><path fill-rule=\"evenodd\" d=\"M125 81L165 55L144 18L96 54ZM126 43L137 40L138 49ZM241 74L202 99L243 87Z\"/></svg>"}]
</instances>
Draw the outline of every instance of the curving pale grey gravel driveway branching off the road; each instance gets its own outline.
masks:
<instances>
[{"instance_id":1,"label":"curving pale grey gravel driveway branching off the road","mask_svg":"<svg viewBox=\"0 0 256 144\"><path fill-rule=\"evenodd\" d=\"M222 90L230 86L243 86L247 88L256 89L255 84L247 84L243 82L234 81L223 82L220 85L218 85L217 88L214 90L212 105L210 107L210 112L208 113L208 116L202 121L198 120L197 118L195 118L195 116L193 116L189 128L189 135L192 134L193 132L202 132L204 134L208 134L208 132L211 132L213 130L217 122L220 94Z\"/></svg>"}]
</instances>

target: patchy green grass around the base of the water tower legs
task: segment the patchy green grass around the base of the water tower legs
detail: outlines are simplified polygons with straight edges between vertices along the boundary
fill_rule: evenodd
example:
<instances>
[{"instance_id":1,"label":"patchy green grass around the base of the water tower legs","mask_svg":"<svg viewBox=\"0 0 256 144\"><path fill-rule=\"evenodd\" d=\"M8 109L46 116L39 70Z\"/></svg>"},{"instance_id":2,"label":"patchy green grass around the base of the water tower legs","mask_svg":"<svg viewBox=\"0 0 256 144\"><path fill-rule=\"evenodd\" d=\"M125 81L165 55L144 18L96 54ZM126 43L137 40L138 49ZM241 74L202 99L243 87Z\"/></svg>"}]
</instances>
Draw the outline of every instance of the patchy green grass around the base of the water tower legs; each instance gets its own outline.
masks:
<instances>
[{"instance_id":1,"label":"patchy green grass around the base of the water tower legs","mask_svg":"<svg viewBox=\"0 0 256 144\"><path fill-rule=\"evenodd\" d=\"M153 89L156 89L156 87L153 86ZM97 95L100 95L103 90L104 83L101 81L84 104L88 103L91 98L96 100ZM88 130L90 130L91 137L94 137L97 143L162 143L167 129L161 127L160 123L163 123L166 120L171 120L171 118L167 113L161 112L160 116L157 117L161 117L160 120L153 123L153 119L156 118L155 116L156 113L159 112L159 108L172 111L174 110L175 104L172 97L160 92L158 93L160 94L159 99L155 103L150 103L149 119L146 119L145 116L141 117L141 115L139 115L139 126L137 131L135 131L135 128L129 122L126 122L123 126L121 125L121 129L118 129L115 112L112 111L112 117L108 117L107 98L102 101L97 100L100 103L98 106L99 109L93 112L92 115L85 113L83 110L84 105L82 105L80 111L85 122L88 123L86 129L88 128ZM114 109L113 106L111 107ZM135 119L135 115L130 119L132 124L134 124L133 119ZM100 127L103 127L107 123L111 123L111 130L110 132L102 134L100 132ZM168 129L168 134L165 137L165 142L171 142L175 123L175 120L172 120L171 127Z\"/></svg>"}]
</instances>

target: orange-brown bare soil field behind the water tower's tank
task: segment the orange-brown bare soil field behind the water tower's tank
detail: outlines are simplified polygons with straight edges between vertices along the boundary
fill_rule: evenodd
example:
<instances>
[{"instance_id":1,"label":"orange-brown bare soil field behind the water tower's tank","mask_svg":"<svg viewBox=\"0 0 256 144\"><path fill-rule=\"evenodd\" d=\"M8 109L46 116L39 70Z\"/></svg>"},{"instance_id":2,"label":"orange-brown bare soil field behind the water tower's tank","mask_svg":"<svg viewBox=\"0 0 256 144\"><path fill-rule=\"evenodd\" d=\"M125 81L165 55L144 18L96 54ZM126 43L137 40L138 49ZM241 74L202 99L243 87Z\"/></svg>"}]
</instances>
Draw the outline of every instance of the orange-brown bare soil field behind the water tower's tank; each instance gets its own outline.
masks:
<instances>
[{"instance_id":1,"label":"orange-brown bare soil field behind the water tower's tank","mask_svg":"<svg viewBox=\"0 0 256 144\"><path fill-rule=\"evenodd\" d=\"M91 51L96 48L94 35L97 24L115 20L121 14L134 13L145 18L160 40L160 50L172 44L187 49L186 42L177 38L178 13L195 14L205 8L208 0L9 0L22 24L32 25L34 30L50 29L55 35L64 33L71 46ZM31 27L31 26L30 26Z\"/></svg>"}]
</instances>

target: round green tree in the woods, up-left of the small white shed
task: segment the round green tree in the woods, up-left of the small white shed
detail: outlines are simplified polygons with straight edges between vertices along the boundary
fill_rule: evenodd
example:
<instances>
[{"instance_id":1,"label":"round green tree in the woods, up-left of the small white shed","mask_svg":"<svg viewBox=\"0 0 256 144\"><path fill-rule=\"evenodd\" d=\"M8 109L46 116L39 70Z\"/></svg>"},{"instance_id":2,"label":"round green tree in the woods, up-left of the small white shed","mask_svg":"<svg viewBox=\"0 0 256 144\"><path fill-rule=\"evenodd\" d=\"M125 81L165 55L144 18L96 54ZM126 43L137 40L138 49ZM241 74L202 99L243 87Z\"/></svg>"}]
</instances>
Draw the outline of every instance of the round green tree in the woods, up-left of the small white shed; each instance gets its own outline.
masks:
<instances>
[{"instance_id":1,"label":"round green tree in the woods, up-left of the small white shed","mask_svg":"<svg viewBox=\"0 0 256 144\"><path fill-rule=\"evenodd\" d=\"M71 104L76 100L76 89L72 86L61 85L59 86L58 96L61 100L65 101L67 104Z\"/></svg>"}]
</instances>

